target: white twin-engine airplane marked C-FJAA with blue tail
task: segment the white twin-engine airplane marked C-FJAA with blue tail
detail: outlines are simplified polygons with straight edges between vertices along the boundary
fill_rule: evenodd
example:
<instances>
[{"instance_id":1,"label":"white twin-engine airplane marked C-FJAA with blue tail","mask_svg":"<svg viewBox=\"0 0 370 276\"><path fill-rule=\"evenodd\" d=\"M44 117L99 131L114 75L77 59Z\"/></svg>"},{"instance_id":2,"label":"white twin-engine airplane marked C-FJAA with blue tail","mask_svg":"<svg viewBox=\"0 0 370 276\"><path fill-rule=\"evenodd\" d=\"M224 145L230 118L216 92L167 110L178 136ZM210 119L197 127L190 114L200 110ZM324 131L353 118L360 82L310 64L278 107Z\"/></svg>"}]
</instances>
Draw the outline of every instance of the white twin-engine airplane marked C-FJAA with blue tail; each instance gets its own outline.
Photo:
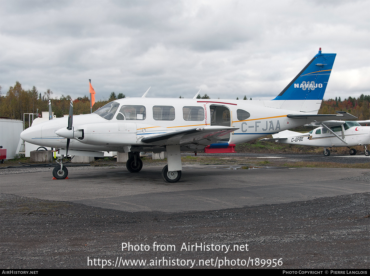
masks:
<instances>
[{"instance_id":1,"label":"white twin-engine airplane marked C-FJAA with blue tail","mask_svg":"<svg viewBox=\"0 0 370 276\"><path fill-rule=\"evenodd\" d=\"M24 141L59 149L60 166L53 175L67 177L63 157L98 156L98 152L128 152L127 169L142 169L141 151L167 152L162 170L166 182L181 178L181 151L204 151L206 146L229 147L314 120L343 115L317 115L336 54L317 55L275 99L211 100L125 98L92 114L57 118L27 128Z\"/></svg>"}]
</instances>

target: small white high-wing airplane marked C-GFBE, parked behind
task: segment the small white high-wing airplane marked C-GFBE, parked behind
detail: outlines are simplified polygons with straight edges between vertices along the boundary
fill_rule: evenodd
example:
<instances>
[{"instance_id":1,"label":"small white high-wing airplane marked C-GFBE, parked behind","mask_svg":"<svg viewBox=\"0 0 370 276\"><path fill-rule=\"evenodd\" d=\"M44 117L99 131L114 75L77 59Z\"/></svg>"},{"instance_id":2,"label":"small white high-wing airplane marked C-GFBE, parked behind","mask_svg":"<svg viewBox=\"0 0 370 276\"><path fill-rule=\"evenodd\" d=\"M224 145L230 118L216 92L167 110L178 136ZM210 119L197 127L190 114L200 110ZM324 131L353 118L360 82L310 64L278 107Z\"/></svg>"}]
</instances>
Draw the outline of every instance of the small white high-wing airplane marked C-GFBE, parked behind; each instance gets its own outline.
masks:
<instances>
[{"instance_id":1,"label":"small white high-wing airplane marked C-GFBE, parked behind","mask_svg":"<svg viewBox=\"0 0 370 276\"><path fill-rule=\"evenodd\" d=\"M344 112L345 113L345 112ZM352 115L346 113L346 117ZM356 118L352 116L352 118ZM308 124L309 126L320 126L307 133L284 130L273 134L273 138L261 139L260 141L273 140L283 144L296 144L305 146L323 146L324 156L330 155L330 149L346 146L350 149L349 154L355 155L356 149L350 146L364 146L365 155L370 156L366 145L370 144L370 127L361 126L360 123L369 125L367 121L323 121ZM330 149L327 149L330 148Z\"/></svg>"}]
</instances>

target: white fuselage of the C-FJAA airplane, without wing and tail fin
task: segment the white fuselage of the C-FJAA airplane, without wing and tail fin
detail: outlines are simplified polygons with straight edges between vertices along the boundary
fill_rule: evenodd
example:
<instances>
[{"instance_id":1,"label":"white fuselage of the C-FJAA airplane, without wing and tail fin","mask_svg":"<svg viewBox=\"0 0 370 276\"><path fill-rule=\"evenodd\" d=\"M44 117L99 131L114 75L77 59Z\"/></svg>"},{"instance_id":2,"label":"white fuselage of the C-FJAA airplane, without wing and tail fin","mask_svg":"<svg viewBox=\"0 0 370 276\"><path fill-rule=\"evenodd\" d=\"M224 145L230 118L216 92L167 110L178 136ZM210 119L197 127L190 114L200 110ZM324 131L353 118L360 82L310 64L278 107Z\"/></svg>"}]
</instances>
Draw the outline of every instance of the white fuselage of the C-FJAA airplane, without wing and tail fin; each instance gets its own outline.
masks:
<instances>
[{"instance_id":1,"label":"white fuselage of the C-FJAA airplane, without wing and tail fin","mask_svg":"<svg viewBox=\"0 0 370 276\"><path fill-rule=\"evenodd\" d=\"M306 119L286 116L297 111L265 106L271 105L271 101L126 98L110 104L111 108L100 114L74 115L70 136L62 131L68 124L68 118L64 117L33 125L21 137L32 144L51 148L65 148L66 138L70 138L69 148L75 150L124 151L124 146L131 146L135 151L154 149L159 152L165 151L165 147L148 145L141 139L223 125L238 130L221 137L222 141L240 144L306 123ZM204 145L189 144L182 148L186 149L199 151Z\"/></svg>"}]
</instances>

